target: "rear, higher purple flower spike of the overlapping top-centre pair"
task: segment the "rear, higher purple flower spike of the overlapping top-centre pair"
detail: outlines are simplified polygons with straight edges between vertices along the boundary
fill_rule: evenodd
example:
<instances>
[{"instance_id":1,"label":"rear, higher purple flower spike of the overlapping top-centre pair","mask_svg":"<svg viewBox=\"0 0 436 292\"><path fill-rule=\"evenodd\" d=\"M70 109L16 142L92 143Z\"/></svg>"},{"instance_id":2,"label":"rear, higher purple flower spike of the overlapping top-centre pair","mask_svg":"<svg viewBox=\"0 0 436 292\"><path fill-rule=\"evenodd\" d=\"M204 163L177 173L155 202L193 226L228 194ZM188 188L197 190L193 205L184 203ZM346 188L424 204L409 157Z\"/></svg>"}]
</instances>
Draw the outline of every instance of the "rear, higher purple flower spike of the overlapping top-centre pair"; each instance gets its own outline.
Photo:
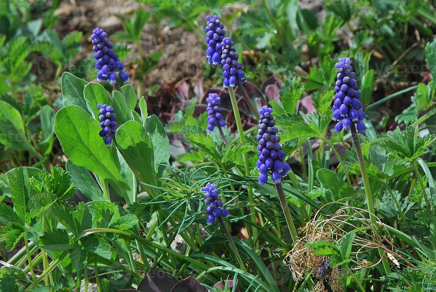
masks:
<instances>
[{"instance_id":1,"label":"rear, higher purple flower spike of the overlapping top-centre pair","mask_svg":"<svg viewBox=\"0 0 436 292\"><path fill-rule=\"evenodd\" d=\"M209 64L219 64L221 62L221 54L218 53L215 49L217 44L220 44L224 39L225 30L224 24L222 24L218 15L214 17L210 17L209 15L206 17L208 23L206 24L206 43L208 43L208 48L206 50L206 57L209 58Z\"/></svg>"}]
</instances>

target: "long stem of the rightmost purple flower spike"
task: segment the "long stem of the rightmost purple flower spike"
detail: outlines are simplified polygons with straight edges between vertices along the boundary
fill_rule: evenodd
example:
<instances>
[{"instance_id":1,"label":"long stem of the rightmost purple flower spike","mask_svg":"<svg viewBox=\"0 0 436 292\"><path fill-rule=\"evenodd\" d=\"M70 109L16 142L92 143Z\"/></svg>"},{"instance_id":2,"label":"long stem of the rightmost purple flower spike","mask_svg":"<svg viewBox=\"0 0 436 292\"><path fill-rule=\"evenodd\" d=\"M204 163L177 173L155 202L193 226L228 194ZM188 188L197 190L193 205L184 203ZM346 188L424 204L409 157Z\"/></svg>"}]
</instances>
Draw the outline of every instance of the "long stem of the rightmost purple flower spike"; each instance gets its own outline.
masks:
<instances>
[{"instance_id":1,"label":"long stem of the rightmost purple flower spike","mask_svg":"<svg viewBox=\"0 0 436 292\"><path fill-rule=\"evenodd\" d=\"M368 212L369 212L369 218L371 220L371 224L374 225L374 228L377 226L377 220L375 218L375 211L374 211L374 200L372 199L371 194L371 186L369 185L369 178L368 178L368 172L366 171L366 165L363 158L362 148L360 147L360 141L359 137L357 135L356 126L354 123L351 124L351 136L353 137L354 147L356 148L357 158L360 165L360 170L362 174L363 179L363 186L365 188L365 196L366 196L366 203L368 206ZM385 269L385 273L389 274L391 272L391 268L389 267L388 260L383 256L383 251L379 248L378 253L380 254L381 261L383 263L383 268ZM368 256L368 261L372 261L372 257L370 258ZM364 271L362 273L362 276L365 276L368 271ZM365 276L366 278L367 276Z\"/></svg>"}]
</instances>

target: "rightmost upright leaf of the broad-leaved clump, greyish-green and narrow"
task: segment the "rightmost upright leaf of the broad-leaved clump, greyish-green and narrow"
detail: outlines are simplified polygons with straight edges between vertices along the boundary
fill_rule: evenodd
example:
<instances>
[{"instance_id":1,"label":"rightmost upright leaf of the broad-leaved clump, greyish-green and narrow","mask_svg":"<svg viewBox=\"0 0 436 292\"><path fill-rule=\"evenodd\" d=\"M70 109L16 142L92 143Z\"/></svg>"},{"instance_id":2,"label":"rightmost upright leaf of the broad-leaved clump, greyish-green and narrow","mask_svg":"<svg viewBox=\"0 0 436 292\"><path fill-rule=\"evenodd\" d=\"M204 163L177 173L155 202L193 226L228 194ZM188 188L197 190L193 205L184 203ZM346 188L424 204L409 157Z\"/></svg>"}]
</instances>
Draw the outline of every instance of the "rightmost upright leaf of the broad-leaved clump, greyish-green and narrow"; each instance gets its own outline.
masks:
<instances>
[{"instance_id":1,"label":"rightmost upright leaf of the broad-leaved clump, greyish-green and narrow","mask_svg":"<svg viewBox=\"0 0 436 292\"><path fill-rule=\"evenodd\" d=\"M147 117L146 131L153 146L154 171L160 178L170 159L170 141L164 126L154 114Z\"/></svg>"}]
</instances>

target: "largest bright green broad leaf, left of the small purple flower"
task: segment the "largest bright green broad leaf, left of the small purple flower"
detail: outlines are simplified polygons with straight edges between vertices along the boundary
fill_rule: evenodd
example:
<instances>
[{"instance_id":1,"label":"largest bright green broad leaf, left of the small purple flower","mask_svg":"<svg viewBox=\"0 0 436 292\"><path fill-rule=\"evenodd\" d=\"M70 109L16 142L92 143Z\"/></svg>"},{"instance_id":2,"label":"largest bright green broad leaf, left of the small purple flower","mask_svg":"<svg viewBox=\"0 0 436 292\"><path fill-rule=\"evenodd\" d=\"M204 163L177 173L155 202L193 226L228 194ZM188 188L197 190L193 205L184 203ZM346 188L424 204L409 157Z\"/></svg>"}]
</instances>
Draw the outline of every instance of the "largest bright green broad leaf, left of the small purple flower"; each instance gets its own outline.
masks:
<instances>
[{"instance_id":1,"label":"largest bright green broad leaf, left of the small purple flower","mask_svg":"<svg viewBox=\"0 0 436 292\"><path fill-rule=\"evenodd\" d=\"M112 152L99 136L99 124L78 106L66 106L56 113L54 131L65 155L78 166L106 179L117 192L129 189L119 174Z\"/></svg>"}]
</instances>

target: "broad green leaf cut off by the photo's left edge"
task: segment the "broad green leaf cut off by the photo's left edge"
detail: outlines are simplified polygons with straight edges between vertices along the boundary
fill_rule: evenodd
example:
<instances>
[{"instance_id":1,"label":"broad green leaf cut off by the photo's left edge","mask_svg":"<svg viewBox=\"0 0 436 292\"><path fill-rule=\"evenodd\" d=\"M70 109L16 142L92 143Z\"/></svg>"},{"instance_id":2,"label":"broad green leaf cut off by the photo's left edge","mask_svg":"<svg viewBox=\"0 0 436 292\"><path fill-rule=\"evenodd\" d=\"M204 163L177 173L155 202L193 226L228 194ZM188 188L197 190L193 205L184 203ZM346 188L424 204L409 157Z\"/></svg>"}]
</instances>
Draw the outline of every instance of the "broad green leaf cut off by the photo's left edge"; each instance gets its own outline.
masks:
<instances>
[{"instance_id":1,"label":"broad green leaf cut off by the photo's left edge","mask_svg":"<svg viewBox=\"0 0 436 292\"><path fill-rule=\"evenodd\" d=\"M35 151L26 139L20 112L3 100L0 100L0 143L16 150Z\"/></svg>"}]
</instances>

